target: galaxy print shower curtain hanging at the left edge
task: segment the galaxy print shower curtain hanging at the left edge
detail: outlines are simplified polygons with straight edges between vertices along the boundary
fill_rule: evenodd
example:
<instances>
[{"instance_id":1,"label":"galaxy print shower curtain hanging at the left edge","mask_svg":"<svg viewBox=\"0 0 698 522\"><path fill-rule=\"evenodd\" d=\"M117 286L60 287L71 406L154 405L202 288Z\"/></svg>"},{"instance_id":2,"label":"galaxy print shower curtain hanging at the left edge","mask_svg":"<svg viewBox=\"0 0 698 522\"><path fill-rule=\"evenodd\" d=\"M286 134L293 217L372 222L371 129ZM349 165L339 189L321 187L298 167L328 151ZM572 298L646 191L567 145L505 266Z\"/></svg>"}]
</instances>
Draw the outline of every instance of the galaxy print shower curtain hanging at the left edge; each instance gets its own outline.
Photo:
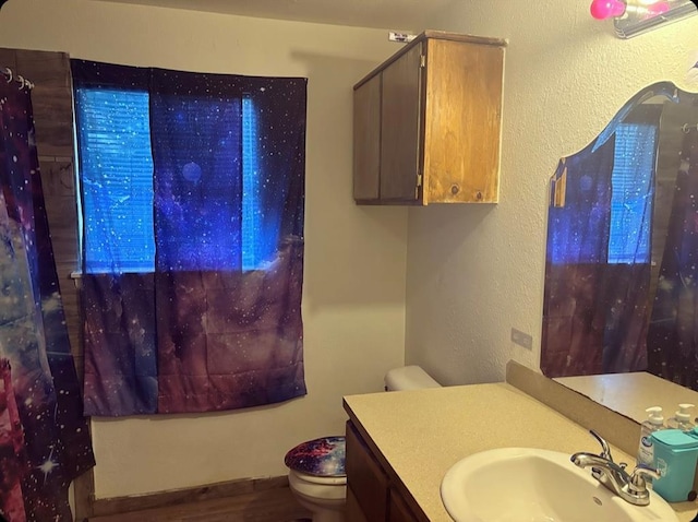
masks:
<instances>
[{"instance_id":1,"label":"galaxy print shower curtain hanging at the left edge","mask_svg":"<svg viewBox=\"0 0 698 522\"><path fill-rule=\"evenodd\" d=\"M53 261L27 88L0 75L0 514L71 521L95 464Z\"/></svg>"}]
</instances>

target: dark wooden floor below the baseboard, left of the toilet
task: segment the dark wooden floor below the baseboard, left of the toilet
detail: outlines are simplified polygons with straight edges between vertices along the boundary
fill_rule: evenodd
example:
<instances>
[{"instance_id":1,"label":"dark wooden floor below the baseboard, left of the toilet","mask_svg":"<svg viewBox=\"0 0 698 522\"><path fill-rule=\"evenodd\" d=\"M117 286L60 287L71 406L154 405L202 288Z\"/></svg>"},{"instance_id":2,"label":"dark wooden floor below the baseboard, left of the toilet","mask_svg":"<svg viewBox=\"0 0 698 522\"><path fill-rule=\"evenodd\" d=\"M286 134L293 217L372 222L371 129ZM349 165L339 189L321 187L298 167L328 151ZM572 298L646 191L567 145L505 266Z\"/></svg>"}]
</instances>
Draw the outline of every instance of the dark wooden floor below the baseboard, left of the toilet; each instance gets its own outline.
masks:
<instances>
[{"instance_id":1,"label":"dark wooden floor below the baseboard, left of the toilet","mask_svg":"<svg viewBox=\"0 0 698 522\"><path fill-rule=\"evenodd\" d=\"M229 498L198 500L130 513L93 517L89 522L310 522L291 490L269 490Z\"/></svg>"}]
</instances>

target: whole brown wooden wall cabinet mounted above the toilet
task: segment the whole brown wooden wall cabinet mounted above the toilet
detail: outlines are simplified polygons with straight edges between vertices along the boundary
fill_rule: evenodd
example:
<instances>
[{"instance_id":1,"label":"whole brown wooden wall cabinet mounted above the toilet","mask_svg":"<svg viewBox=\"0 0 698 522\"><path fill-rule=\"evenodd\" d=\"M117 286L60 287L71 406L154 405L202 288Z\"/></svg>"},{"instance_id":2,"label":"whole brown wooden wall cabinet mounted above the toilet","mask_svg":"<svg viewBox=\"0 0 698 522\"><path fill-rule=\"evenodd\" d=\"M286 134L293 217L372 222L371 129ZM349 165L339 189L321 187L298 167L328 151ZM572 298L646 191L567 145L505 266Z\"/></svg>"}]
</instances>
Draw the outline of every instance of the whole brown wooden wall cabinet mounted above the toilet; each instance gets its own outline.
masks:
<instances>
[{"instance_id":1,"label":"whole brown wooden wall cabinet mounted above the toilet","mask_svg":"<svg viewBox=\"0 0 698 522\"><path fill-rule=\"evenodd\" d=\"M428 31L354 85L357 203L497 201L505 46Z\"/></svg>"}]
</instances>

